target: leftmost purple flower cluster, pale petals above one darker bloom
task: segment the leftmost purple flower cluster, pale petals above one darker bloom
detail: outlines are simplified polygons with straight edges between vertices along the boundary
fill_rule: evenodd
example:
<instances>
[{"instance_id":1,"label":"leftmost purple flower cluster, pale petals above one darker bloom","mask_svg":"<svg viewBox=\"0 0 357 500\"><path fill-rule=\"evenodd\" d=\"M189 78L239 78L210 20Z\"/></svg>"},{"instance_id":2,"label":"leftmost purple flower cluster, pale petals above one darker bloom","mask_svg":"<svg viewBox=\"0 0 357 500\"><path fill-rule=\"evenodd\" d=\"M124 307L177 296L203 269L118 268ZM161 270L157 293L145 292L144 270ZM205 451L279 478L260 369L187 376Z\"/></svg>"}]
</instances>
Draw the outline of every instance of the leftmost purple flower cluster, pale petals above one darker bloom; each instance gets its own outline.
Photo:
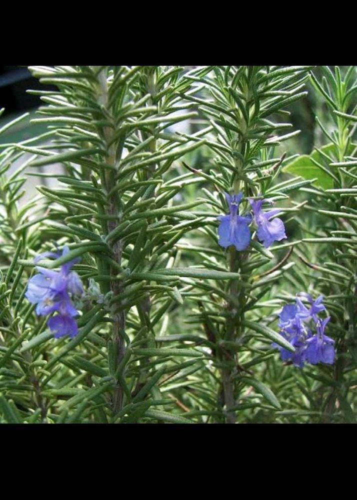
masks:
<instances>
[{"instance_id":1,"label":"leftmost purple flower cluster, pale petals above one darker bloom","mask_svg":"<svg viewBox=\"0 0 357 500\"><path fill-rule=\"evenodd\" d=\"M35 257L34 262L45 257L58 258L68 253L69 248L63 247L62 253L43 252ZM71 271L71 266L78 262L79 258L74 258L60 266L59 271L45 269L36 266L39 271L31 277L27 284L25 296L29 302L36 305L36 314L46 316L51 312L57 311L57 314L51 316L47 325L55 338L63 335L73 337L78 332L78 326L74 316L78 314L73 306L70 295L80 296L83 293L83 285L75 271Z\"/></svg>"}]
</instances>

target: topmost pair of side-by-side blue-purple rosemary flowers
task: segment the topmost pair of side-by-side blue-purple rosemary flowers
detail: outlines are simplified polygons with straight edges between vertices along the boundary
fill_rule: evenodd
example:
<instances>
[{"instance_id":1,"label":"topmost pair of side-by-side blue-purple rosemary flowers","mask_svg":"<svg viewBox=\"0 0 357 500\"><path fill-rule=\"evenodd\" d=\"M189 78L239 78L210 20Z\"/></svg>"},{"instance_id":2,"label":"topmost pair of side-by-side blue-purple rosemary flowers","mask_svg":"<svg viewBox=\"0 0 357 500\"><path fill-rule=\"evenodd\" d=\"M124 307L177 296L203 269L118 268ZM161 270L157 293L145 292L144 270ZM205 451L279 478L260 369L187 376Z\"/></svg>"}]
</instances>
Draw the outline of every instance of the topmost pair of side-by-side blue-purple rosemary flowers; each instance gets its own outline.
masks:
<instances>
[{"instance_id":1,"label":"topmost pair of side-by-side blue-purple rosemary flowers","mask_svg":"<svg viewBox=\"0 0 357 500\"><path fill-rule=\"evenodd\" d=\"M253 217L250 213L245 215L238 214L238 206L242 198L242 193L229 195L224 193L225 199L229 206L229 215L221 215L218 217L220 224L218 226L218 243L227 248L229 245L234 245L237 250L244 250L250 241L250 230L248 224L252 218L257 228L256 235L259 241L263 243L265 248L271 245L273 241L280 241L286 238L285 227L281 219L270 217L281 211L280 208L274 208L267 212L263 212L261 206L264 201L270 202L269 199L253 200L248 198L253 211Z\"/></svg>"}]
</instances>

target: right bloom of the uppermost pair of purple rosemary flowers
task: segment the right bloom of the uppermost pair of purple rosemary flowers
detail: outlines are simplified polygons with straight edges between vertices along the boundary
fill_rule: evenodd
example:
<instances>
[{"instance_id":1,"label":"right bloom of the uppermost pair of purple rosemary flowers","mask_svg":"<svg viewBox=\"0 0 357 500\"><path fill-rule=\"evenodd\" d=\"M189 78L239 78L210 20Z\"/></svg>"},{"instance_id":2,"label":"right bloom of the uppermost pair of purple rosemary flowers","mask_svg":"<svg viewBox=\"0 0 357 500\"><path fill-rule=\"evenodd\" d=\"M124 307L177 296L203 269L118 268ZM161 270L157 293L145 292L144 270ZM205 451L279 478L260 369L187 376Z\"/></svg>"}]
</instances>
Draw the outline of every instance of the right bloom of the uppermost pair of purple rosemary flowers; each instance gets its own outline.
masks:
<instances>
[{"instance_id":1,"label":"right bloom of the uppermost pair of purple rosemary flowers","mask_svg":"<svg viewBox=\"0 0 357 500\"><path fill-rule=\"evenodd\" d=\"M267 212L261 210L261 205L264 201L270 202L269 199L253 200L248 198L249 203L253 209L254 222L257 226L256 235L259 241L262 241L265 248L271 245L273 241L280 241L286 238L285 227L281 219L274 218L269 220L270 217L276 215L281 211L281 208L273 208Z\"/></svg>"}]
</instances>

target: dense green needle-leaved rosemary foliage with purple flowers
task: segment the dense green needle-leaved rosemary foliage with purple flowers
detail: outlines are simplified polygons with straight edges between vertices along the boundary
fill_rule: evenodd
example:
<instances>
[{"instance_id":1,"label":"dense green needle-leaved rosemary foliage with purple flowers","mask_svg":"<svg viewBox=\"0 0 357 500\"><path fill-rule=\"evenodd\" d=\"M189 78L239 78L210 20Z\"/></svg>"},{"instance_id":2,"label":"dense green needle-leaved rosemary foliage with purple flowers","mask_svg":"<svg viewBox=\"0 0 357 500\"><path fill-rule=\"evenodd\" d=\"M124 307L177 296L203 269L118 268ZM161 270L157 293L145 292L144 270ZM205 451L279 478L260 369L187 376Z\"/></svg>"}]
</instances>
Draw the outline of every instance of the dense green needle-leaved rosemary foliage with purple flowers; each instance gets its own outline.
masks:
<instances>
[{"instance_id":1,"label":"dense green needle-leaved rosemary foliage with purple flowers","mask_svg":"<svg viewBox=\"0 0 357 500\"><path fill-rule=\"evenodd\" d=\"M356 66L29 69L0 422L355 422Z\"/></svg>"}]
</instances>

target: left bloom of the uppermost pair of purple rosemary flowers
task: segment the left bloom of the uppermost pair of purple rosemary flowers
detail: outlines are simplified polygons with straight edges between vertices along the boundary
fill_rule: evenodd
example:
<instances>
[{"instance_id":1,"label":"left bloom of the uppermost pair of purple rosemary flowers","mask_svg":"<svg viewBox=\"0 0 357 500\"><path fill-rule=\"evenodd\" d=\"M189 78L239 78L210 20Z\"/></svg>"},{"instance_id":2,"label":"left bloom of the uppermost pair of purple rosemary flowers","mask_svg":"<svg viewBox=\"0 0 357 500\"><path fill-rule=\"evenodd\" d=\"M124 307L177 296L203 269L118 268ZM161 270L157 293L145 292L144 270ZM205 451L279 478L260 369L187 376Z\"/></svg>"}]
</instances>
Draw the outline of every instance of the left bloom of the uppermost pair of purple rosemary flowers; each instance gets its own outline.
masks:
<instances>
[{"instance_id":1,"label":"left bloom of the uppermost pair of purple rosemary flowers","mask_svg":"<svg viewBox=\"0 0 357 500\"><path fill-rule=\"evenodd\" d=\"M218 226L218 243L223 248L234 245L237 250L244 250L250 241L250 230L248 224L251 216L238 215L238 206L242 193L232 194L224 193L225 199L229 205L229 215L218 217L220 224Z\"/></svg>"}]
</instances>

